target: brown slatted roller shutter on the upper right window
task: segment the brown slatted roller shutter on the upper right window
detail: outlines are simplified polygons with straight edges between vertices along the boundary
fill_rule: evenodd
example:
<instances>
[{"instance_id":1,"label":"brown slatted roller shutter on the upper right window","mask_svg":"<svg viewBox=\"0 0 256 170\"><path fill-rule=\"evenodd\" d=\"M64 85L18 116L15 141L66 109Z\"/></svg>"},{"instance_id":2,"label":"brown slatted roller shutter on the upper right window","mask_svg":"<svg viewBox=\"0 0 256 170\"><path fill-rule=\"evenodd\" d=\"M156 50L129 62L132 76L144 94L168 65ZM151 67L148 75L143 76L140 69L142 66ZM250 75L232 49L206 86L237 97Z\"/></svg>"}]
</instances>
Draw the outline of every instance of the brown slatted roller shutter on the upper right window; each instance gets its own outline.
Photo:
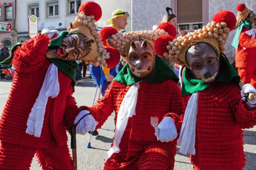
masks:
<instances>
[{"instance_id":1,"label":"brown slatted roller shutter on the upper right window","mask_svg":"<svg viewBox=\"0 0 256 170\"><path fill-rule=\"evenodd\" d=\"M177 23L203 21L203 0L177 0Z\"/></svg>"}]
</instances>

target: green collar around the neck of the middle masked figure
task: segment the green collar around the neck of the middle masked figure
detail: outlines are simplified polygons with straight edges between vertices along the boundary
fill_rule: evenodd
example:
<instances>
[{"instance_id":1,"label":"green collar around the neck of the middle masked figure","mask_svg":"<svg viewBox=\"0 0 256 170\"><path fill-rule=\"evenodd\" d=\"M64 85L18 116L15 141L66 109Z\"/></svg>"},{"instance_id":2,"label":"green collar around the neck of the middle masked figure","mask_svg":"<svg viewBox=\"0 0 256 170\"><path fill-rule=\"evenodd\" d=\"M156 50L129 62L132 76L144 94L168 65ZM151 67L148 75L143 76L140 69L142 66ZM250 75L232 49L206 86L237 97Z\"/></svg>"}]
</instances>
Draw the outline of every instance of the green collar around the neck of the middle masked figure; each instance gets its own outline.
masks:
<instances>
[{"instance_id":1,"label":"green collar around the neck of the middle masked figure","mask_svg":"<svg viewBox=\"0 0 256 170\"><path fill-rule=\"evenodd\" d=\"M166 63L164 63L164 61L158 55L156 55L154 69L148 76L143 78L135 76L134 74L132 74L132 71L130 70L128 64L126 64L114 80L121 82L126 86L130 86L136 82L141 81L157 83L166 80L174 80L174 82L178 82L179 79L174 71Z\"/></svg>"}]
</instances>

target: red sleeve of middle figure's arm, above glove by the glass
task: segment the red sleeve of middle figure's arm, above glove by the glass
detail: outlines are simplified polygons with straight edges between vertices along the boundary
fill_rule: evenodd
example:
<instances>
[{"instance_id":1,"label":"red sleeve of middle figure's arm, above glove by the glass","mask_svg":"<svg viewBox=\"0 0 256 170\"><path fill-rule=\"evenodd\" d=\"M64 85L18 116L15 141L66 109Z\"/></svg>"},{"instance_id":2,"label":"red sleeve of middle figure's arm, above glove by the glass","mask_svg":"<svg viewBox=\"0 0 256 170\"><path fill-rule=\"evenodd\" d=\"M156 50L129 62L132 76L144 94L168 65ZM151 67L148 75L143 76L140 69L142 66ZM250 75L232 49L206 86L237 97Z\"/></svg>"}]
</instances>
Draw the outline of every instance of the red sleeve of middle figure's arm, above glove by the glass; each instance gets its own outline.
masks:
<instances>
[{"instance_id":1,"label":"red sleeve of middle figure's arm, above glove by the glass","mask_svg":"<svg viewBox=\"0 0 256 170\"><path fill-rule=\"evenodd\" d=\"M180 87L173 82L172 99L170 101L170 113L167 113L166 115L164 115L164 117L172 116L176 125L177 133L180 133L183 122L183 115L184 112L182 111L181 90Z\"/></svg>"}]
</instances>

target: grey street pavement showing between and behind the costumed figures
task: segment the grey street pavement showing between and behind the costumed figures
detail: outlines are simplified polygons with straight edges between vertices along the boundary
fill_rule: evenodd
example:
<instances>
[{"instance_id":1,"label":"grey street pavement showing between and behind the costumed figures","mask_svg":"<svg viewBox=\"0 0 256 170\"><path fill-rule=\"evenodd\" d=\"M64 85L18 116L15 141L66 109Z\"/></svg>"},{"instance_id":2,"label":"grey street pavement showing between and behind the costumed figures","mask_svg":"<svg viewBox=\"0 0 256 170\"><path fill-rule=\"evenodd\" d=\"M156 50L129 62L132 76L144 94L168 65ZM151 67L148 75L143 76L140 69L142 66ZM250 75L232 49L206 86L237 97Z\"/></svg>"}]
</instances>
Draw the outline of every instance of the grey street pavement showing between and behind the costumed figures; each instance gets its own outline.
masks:
<instances>
[{"instance_id":1,"label":"grey street pavement showing between and behind the costumed figures","mask_svg":"<svg viewBox=\"0 0 256 170\"><path fill-rule=\"evenodd\" d=\"M88 75L88 74L87 74ZM4 108L6 99L10 92L12 80L0 80L0 109ZM78 106L92 106L96 85L90 78L82 79L75 87L73 96L76 98ZM0 113L1 114L1 113ZM98 129L99 135L92 137L91 146L87 148L90 135L76 135L77 159L79 170L102 170L104 167L104 157L110 149L114 136L114 113L108 118L102 129ZM70 145L70 135L68 134ZM71 150L70 150L71 151ZM246 154L246 167L244 170L256 170L256 127L244 130L244 151ZM70 152L71 154L71 152ZM177 152L175 157L174 170L192 170L189 156ZM30 170L42 170L36 157L33 158Z\"/></svg>"}]
</instances>

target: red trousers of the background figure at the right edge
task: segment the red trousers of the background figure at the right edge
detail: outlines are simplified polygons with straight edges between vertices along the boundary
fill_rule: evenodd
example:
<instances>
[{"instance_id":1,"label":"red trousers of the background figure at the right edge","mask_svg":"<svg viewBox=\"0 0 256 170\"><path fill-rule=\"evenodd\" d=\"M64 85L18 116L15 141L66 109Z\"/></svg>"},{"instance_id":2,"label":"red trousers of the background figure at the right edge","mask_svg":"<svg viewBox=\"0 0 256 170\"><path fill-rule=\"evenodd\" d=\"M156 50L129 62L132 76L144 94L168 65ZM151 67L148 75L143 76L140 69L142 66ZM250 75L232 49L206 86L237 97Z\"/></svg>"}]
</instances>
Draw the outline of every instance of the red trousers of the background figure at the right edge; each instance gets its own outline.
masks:
<instances>
[{"instance_id":1,"label":"red trousers of the background figure at the right edge","mask_svg":"<svg viewBox=\"0 0 256 170\"><path fill-rule=\"evenodd\" d=\"M238 68L238 74L244 84L252 84L256 88L256 67Z\"/></svg>"}]
</instances>

